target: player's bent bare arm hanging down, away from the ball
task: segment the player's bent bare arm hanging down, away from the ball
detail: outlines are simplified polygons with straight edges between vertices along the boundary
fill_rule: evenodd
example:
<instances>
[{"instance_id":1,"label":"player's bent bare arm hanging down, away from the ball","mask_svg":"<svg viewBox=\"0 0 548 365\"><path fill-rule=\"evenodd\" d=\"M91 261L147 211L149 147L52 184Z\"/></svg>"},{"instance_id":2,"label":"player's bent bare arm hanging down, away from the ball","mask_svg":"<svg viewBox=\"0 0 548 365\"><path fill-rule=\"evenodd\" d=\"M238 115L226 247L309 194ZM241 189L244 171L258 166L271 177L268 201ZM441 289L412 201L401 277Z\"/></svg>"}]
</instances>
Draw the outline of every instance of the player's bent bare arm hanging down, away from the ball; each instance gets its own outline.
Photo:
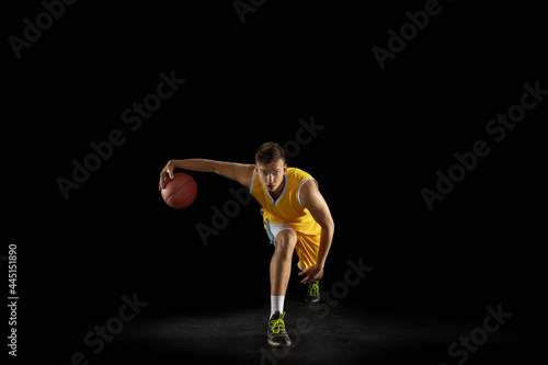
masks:
<instances>
[{"instance_id":1,"label":"player's bent bare arm hanging down, away from the ball","mask_svg":"<svg viewBox=\"0 0 548 365\"><path fill-rule=\"evenodd\" d=\"M316 181L307 181L300 190L300 203L307 208L313 219L321 226L320 249L318 250L318 260L316 265L307 267L299 273L299 276L307 275L301 283L307 284L310 281L319 281L323 276L323 266L328 258L335 225L331 217L328 203L321 195Z\"/></svg>"}]
</instances>

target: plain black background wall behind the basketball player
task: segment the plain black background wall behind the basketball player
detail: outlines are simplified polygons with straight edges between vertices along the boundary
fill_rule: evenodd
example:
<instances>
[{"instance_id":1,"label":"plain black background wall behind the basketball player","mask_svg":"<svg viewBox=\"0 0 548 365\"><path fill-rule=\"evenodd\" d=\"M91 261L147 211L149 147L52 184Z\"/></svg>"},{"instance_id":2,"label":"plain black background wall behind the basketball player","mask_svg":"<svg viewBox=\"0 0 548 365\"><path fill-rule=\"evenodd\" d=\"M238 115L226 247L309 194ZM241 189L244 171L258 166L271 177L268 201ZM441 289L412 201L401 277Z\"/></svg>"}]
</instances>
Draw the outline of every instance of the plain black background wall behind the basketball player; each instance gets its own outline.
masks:
<instances>
[{"instance_id":1,"label":"plain black background wall behind the basketball player","mask_svg":"<svg viewBox=\"0 0 548 365\"><path fill-rule=\"evenodd\" d=\"M313 117L324 128L290 164L319 181L335 220L326 288L362 258L374 270L346 300L364 310L482 318L502 304L512 326L540 328L546 100L501 142L484 127L525 82L548 89L546 22L536 3L441 5L384 70L372 48L423 1L266 1L246 23L231 1L80 1L20 59L4 42L2 254L18 244L20 326L106 318L134 293L149 313L267 303L259 205L206 247L196 224L238 184L191 173L197 198L173 209L158 176L170 159L253 163ZM43 11L5 12L4 39ZM122 113L172 70L186 82L132 132ZM125 144L65 199L56 179L113 129ZM478 139L490 155L430 212L421 189Z\"/></svg>"}]
</instances>

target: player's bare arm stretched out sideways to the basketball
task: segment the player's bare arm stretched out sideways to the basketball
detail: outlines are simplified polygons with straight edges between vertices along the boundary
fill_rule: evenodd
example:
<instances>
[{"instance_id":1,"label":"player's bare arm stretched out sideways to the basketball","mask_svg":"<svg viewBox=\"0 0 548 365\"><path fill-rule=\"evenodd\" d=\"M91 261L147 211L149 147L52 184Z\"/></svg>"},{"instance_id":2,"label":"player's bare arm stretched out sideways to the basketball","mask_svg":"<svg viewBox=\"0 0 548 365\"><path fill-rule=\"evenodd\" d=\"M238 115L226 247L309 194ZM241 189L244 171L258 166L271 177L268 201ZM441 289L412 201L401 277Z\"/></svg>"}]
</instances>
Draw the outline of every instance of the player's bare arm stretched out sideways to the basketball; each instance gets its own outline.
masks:
<instances>
[{"instance_id":1,"label":"player's bare arm stretched out sideways to the basketball","mask_svg":"<svg viewBox=\"0 0 548 365\"><path fill-rule=\"evenodd\" d=\"M216 172L221 176L238 181L240 184L249 189L251 187L251 178L253 176L254 166L207 159L171 160L160 172L160 190L165 187L168 179L173 179L174 169Z\"/></svg>"}]
</instances>

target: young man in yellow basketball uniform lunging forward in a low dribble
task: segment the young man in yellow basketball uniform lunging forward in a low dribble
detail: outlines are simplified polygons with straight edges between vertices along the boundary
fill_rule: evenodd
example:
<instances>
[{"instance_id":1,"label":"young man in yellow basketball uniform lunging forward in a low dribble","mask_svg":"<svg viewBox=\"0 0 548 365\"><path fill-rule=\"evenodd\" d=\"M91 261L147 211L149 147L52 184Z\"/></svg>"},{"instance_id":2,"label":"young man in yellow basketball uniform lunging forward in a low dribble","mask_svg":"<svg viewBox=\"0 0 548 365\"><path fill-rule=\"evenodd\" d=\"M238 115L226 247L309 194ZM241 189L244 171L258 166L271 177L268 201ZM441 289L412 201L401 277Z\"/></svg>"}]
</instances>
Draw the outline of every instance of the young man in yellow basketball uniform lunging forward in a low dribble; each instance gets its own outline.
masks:
<instances>
[{"instance_id":1,"label":"young man in yellow basketball uniform lunging forward in a low dribble","mask_svg":"<svg viewBox=\"0 0 548 365\"><path fill-rule=\"evenodd\" d=\"M262 205L266 233L275 246L271 260L271 316L267 338L273 346L289 346L284 323L284 299L294 250L308 284L306 301L320 300L319 281L333 239L334 224L316 180L302 170L287 168L282 146L266 142L255 153L255 164L205 159L172 160L160 172L162 190L174 169L216 172L250 190Z\"/></svg>"}]
</instances>

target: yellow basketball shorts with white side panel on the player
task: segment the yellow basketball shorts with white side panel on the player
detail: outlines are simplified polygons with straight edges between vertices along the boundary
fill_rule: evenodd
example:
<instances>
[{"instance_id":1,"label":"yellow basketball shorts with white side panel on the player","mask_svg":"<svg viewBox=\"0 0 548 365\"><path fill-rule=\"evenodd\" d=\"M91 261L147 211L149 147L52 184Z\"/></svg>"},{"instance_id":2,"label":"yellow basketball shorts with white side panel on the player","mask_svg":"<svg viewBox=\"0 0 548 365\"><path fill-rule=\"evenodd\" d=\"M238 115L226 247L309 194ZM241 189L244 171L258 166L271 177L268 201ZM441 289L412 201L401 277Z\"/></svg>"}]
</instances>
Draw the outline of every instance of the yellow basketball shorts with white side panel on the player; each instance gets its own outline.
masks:
<instances>
[{"instance_id":1,"label":"yellow basketball shorts with white side panel on the player","mask_svg":"<svg viewBox=\"0 0 548 365\"><path fill-rule=\"evenodd\" d=\"M283 230L292 229L297 233L297 244L295 250L297 251L297 256L299 258L298 266L300 270L308 269L309 266L318 262L318 250L320 248L320 236L318 235L305 235L299 232L294 227L284 223L283 219L270 214L267 210L261 209L263 215L264 230L271 240L271 243L276 246L276 236Z\"/></svg>"}]
</instances>

